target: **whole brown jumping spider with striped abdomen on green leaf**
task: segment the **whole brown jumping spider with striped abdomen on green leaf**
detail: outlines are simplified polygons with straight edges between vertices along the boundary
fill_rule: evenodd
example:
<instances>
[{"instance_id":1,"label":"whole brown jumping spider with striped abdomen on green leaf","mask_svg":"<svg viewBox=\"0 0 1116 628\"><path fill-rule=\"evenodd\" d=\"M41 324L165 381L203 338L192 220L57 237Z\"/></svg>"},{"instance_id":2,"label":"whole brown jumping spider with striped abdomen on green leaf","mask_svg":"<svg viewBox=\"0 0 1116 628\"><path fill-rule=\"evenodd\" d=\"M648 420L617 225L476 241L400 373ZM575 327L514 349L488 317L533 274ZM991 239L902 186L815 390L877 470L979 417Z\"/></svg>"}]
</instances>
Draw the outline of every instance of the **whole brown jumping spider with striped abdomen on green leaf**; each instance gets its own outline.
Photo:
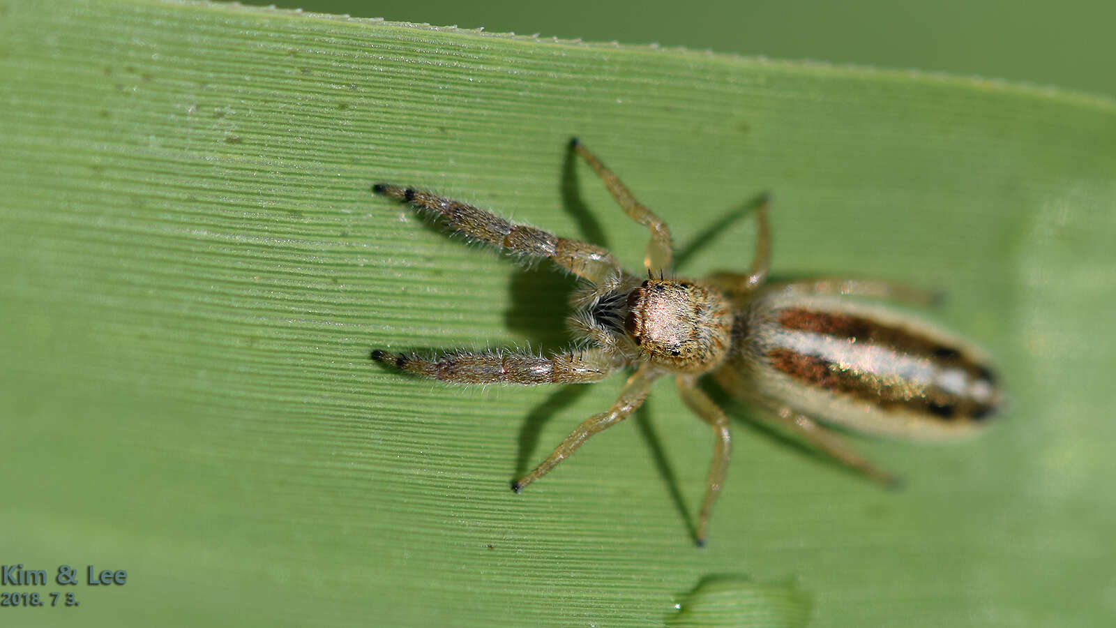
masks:
<instances>
[{"instance_id":1,"label":"whole brown jumping spider with striped abdomen on green leaf","mask_svg":"<svg viewBox=\"0 0 1116 628\"><path fill-rule=\"evenodd\" d=\"M643 276L622 268L602 247L430 192L373 185L378 194L441 217L471 241L521 258L549 258L586 284L574 297L575 349L549 356L490 350L433 358L375 350L374 360L459 384L590 383L617 370L635 370L612 408L581 422L535 470L512 483L514 491L546 475L590 436L632 415L652 383L665 375L674 377L682 399L715 434L698 544L705 542L731 444L728 417L698 387L706 373L820 451L886 485L895 479L822 424L902 438L949 438L979 430L995 413L1001 392L983 352L920 318L850 298L926 305L934 293L847 278L764 284L771 250L766 197L756 210L759 229L751 268L714 273L700 282L666 278L672 258L666 223L583 144L573 140L570 146L625 213L651 231Z\"/></svg>"}]
</instances>

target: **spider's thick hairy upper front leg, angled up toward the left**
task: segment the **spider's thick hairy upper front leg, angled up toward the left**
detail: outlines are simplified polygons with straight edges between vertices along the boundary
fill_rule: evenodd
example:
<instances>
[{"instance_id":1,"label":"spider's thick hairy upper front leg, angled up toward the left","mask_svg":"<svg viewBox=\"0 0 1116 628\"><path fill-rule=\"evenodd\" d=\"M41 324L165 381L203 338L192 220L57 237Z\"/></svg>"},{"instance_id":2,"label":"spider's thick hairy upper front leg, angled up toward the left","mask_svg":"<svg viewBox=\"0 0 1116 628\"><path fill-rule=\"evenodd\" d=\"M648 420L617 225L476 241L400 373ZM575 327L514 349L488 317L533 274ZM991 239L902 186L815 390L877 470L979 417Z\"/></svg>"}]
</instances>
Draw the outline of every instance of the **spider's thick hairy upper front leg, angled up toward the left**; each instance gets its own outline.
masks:
<instances>
[{"instance_id":1,"label":"spider's thick hairy upper front leg, angled up toward the left","mask_svg":"<svg viewBox=\"0 0 1116 628\"><path fill-rule=\"evenodd\" d=\"M376 183L372 191L411 203L420 210L433 211L470 240L481 241L520 257L552 259L558 266L594 284L620 272L619 264L607 249L560 238L527 225L517 225L469 203L387 183Z\"/></svg>"}]
</instances>

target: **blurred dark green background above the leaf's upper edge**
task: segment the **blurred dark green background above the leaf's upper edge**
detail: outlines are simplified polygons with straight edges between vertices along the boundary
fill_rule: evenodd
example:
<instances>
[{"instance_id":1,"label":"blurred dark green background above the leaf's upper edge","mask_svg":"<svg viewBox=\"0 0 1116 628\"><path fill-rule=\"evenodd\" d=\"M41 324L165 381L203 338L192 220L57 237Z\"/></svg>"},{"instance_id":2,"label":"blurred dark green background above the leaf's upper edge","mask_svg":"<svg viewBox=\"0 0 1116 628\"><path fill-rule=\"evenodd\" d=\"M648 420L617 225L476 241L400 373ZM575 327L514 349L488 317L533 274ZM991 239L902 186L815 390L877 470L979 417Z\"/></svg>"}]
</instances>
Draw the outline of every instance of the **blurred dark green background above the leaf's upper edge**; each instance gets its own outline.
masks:
<instances>
[{"instance_id":1,"label":"blurred dark green background above the leaf's upper edge","mask_svg":"<svg viewBox=\"0 0 1116 628\"><path fill-rule=\"evenodd\" d=\"M657 42L777 59L947 72L1116 95L1116 3L1104 0L285 0L275 4L432 26L483 27L489 32Z\"/></svg>"}]
</instances>

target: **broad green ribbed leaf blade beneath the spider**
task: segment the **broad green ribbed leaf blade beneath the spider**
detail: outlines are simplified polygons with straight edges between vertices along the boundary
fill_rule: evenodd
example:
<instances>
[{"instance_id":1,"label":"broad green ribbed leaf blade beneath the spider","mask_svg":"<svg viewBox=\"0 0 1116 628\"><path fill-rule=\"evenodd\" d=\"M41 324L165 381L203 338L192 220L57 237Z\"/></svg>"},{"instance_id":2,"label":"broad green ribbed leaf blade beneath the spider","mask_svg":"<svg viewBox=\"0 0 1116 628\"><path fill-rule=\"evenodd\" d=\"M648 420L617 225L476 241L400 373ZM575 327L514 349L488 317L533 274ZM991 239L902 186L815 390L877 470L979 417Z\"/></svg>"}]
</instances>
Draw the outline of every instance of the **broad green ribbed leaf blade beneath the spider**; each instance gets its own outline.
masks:
<instances>
[{"instance_id":1,"label":"broad green ribbed leaf blade beneath the spider","mask_svg":"<svg viewBox=\"0 0 1116 628\"><path fill-rule=\"evenodd\" d=\"M0 10L0 561L49 578L0 589L80 602L12 609L25 624L1116 613L1112 101L228 4ZM560 349L575 287L369 185L637 268L646 231L571 161L575 134L682 247L770 190L779 273L946 288L932 315L998 356L1011 410L964 444L854 438L906 478L892 494L732 407L703 550L687 534L713 439L670 386L513 494L623 378L460 389L369 363L373 348ZM753 241L731 222L681 270L742 268ZM64 564L81 584L55 583ZM87 565L127 583L88 586ZM709 582L754 586L731 610L732 587L698 593Z\"/></svg>"}]
</instances>

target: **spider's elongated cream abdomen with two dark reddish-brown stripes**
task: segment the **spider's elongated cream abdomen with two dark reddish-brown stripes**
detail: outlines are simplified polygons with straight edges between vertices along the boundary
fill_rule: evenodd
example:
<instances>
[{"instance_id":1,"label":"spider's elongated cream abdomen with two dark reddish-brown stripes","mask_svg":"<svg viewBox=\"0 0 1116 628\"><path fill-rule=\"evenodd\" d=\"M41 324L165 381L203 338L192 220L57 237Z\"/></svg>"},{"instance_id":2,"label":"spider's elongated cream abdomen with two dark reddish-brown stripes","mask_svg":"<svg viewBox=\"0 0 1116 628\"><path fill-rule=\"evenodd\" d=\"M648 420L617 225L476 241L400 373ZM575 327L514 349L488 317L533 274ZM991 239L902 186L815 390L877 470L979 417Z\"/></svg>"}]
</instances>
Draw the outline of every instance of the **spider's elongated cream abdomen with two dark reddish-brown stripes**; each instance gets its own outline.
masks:
<instances>
[{"instance_id":1,"label":"spider's elongated cream abdomen with two dark reddish-brown stripes","mask_svg":"<svg viewBox=\"0 0 1116 628\"><path fill-rule=\"evenodd\" d=\"M1001 402L982 352L918 318L843 297L759 297L738 320L734 373L767 400L852 429L941 437ZM731 383L729 383L731 382Z\"/></svg>"}]
</instances>

